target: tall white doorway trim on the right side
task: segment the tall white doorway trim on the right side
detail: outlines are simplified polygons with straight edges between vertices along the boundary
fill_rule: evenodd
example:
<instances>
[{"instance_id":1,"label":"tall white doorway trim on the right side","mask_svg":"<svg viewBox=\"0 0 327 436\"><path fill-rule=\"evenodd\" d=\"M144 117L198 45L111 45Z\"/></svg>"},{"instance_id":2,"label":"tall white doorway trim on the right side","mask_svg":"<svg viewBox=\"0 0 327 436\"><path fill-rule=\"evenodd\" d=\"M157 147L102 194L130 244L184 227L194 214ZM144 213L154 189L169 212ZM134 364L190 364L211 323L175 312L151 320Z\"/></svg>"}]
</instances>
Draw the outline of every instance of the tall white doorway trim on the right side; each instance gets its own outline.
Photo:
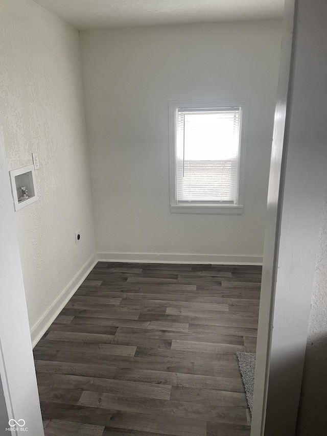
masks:
<instances>
[{"instance_id":1,"label":"tall white doorway trim on the right side","mask_svg":"<svg viewBox=\"0 0 327 436\"><path fill-rule=\"evenodd\" d=\"M251 436L295 434L327 168L327 4L285 6Z\"/></svg>"}]
</instances>

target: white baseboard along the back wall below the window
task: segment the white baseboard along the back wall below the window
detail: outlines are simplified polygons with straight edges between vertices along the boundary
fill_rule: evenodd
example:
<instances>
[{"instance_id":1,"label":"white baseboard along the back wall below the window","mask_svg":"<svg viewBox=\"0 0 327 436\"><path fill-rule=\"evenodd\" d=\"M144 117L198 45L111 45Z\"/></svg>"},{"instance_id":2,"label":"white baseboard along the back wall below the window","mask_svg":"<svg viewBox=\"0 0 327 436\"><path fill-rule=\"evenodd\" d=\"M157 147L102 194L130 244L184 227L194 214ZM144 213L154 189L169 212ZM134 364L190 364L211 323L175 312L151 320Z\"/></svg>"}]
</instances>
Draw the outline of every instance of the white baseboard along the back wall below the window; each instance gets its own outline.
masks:
<instances>
[{"instance_id":1,"label":"white baseboard along the back wall below the window","mask_svg":"<svg viewBox=\"0 0 327 436\"><path fill-rule=\"evenodd\" d=\"M97 253L101 262L262 265L262 256L223 256L156 253Z\"/></svg>"}]
</instances>

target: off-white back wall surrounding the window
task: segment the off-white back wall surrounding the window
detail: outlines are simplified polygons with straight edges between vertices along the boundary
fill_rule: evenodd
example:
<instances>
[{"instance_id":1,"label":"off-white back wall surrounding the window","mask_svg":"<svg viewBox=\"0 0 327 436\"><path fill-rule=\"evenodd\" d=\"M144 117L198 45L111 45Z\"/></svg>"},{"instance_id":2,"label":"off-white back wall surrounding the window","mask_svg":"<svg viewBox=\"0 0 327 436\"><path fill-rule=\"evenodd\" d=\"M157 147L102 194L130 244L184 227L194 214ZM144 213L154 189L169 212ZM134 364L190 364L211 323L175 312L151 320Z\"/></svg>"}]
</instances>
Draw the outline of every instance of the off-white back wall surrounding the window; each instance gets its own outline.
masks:
<instances>
[{"instance_id":1,"label":"off-white back wall surrounding the window","mask_svg":"<svg viewBox=\"0 0 327 436\"><path fill-rule=\"evenodd\" d=\"M260 261L281 32L275 20L81 32L102 257ZM171 214L168 101L237 98L250 99L243 216Z\"/></svg>"}]
</instances>

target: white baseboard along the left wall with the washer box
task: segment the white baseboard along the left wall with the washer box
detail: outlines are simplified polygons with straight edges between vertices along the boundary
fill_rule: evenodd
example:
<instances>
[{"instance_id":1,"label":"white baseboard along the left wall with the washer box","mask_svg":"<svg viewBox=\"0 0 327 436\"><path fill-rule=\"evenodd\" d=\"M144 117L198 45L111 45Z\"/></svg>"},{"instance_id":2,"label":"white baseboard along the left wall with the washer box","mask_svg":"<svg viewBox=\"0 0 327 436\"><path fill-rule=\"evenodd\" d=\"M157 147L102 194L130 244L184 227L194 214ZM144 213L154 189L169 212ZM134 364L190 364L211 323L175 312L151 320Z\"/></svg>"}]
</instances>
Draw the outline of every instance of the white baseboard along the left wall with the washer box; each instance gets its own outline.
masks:
<instances>
[{"instance_id":1,"label":"white baseboard along the left wall with the washer box","mask_svg":"<svg viewBox=\"0 0 327 436\"><path fill-rule=\"evenodd\" d=\"M80 269L73 280L66 286L66 288L61 292L53 304L48 310L41 316L38 322L31 329L31 339L33 348L36 346L37 342L44 335L46 330L51 326L56 317L59 315L66 303L71 299L77 289L80 287L81 283L88 276L92 268L98 262L97 255L93 255L86 264Z\"/></svg>"}]
</instances>

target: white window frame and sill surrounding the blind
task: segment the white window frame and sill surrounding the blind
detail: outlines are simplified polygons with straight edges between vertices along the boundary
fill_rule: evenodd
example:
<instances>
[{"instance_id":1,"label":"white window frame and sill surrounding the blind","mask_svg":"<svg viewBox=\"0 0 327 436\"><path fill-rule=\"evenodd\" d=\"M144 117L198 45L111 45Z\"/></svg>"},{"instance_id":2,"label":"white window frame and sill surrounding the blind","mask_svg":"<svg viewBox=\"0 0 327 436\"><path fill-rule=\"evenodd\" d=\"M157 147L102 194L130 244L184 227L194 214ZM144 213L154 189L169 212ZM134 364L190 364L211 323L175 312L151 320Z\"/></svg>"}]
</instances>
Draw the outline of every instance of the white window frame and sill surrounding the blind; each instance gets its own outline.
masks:
<instances>
[{"instance_id":1,"label":"white window frame and sill surrounding the blind","mask_svg":"<svg viewBox=\"0 0 327 436\"><path fill-rule=\"evenodd\" d=\"M242 122L240 130L240 153L237 183L237 201L235 204L177 204L176 169L176 120L178 109L241 107ZM245 137L248 120L248 99L237 100L192 100L169 102L169 167L170 167L170 211L174 214L220 214L242 215L244 205L244 161Z\"/></svg>"}]
</instances>

